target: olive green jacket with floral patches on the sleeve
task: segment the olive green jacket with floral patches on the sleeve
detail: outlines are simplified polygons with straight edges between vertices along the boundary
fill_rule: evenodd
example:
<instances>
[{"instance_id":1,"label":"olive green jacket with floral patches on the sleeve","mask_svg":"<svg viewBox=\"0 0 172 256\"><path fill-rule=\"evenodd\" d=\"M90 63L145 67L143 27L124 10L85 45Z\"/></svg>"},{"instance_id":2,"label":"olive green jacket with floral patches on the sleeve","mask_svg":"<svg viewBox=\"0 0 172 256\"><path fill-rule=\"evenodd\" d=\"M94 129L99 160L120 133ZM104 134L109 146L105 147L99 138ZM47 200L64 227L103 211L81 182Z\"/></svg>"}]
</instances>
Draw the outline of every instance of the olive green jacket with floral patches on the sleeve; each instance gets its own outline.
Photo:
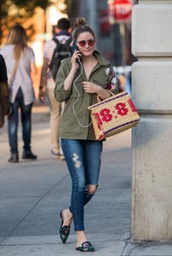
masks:
<instances>
[{"instance_id":1,"label":"olive green jacket with floral patches on the sleeve","mask_svg":"<svg viewBox=\"0 0 172 256\"><path fill-rule=\"evenodd\" d=\"M95 132L91 124L88 107L97 102L96 94L89 94L83 90L83 81L93 82L106 89L115 74L112 65L104 59L98 51L94 52L98 59L89 80L82 68L79 67L70 90L64 90L64 81L72 68L71 58L62 61L56 76L54 96L58 102L66 102L60 123L60 137L71 139L95 140ZM76 90L77 88L77 90ZM115 91L117 93L117 91Z\"/></svg>"}]
</instances>

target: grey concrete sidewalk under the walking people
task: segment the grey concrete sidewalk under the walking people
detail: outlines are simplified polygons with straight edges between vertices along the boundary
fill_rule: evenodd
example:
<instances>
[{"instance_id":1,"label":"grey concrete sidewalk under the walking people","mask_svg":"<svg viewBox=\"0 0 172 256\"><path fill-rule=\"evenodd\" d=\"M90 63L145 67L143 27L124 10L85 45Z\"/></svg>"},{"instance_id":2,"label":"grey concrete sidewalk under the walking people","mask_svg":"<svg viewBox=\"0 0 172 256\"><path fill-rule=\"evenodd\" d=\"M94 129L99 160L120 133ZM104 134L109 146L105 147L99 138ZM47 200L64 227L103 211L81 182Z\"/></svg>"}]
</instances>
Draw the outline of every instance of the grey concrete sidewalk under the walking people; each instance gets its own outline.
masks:
<instances>
[{"instance_id":1,"label":"grey concrete sidewalk under the walking people","mask_svg":"<svg viewBox=\"0 0 172 256\"><path fill-rule=\"evenodd\" d=\"M71 183L66 162L54 160L49 144L49 108L33 108L32 151L35 161L8 163L7 123L0 130L0 255L82 255L76 235L63 245L60 210L70 203ZM85 207L85 228L99 256L172 255L169 242L129 239L131 195L131 131L107 139L99 189ZM19 149L22 153L21 131ZM93 253L87 253L93 255Z\"/></svg>"}]
</instances>

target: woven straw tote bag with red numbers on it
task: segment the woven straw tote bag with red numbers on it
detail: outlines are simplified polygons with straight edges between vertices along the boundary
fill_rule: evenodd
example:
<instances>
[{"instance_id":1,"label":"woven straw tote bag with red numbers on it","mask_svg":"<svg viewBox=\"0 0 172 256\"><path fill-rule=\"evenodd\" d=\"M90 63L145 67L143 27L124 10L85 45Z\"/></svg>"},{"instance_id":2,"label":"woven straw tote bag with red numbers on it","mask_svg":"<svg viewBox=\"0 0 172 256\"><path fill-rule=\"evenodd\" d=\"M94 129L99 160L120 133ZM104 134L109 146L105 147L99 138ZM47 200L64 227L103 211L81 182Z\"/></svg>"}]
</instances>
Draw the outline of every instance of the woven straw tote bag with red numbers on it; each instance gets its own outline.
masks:
<instances>
[{"instance_id":1,"label":"woven straw tote bag with red numbers on it","mask_svg":"<svg viewBox=\"0 0 172 256\"><path fill-rule=\"evenodd\" d=\"M137 125L140 116L126 91L89 106L96 140L111 137Z\"/></svg>"}]
</instances>

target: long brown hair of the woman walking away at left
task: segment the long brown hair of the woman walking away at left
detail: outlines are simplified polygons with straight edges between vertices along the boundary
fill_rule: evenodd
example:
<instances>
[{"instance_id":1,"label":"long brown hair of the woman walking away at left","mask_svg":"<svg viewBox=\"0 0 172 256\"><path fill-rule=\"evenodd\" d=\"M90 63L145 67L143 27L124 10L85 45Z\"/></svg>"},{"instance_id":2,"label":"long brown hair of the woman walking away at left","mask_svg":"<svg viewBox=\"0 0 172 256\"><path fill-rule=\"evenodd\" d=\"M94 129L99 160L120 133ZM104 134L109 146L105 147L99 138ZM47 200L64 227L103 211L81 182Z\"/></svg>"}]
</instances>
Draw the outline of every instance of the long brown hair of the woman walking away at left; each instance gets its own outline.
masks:
<instances>
[{"instance_id":1,"label":"long brown hair of the woman walking away at left","mask_svg":"<svg viewBox=\"0 0 172 256\"><path fill-rule=\"evenodd\" d=\"M6 44L14 44L14 59L17 61L27 46L26 30L23 26L15 25L6 40Z\"/></svg>"}]
</instances>

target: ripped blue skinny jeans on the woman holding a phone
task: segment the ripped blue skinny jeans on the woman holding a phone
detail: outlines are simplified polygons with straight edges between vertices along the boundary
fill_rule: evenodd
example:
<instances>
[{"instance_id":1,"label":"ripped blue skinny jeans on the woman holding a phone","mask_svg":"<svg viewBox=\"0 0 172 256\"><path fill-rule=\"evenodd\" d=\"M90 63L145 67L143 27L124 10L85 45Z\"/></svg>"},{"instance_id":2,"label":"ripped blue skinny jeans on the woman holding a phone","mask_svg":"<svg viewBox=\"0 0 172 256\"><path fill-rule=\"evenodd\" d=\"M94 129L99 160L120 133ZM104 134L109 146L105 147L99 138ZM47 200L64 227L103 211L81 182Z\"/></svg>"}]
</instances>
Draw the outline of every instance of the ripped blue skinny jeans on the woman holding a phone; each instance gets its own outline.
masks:
<instances>
[{"instance_id":1,"label":"ripped blue skinny jeans on the woman holding a phone","mask_svg":"<svg viewBox=\"0 0 172 256\"><path fill-rule=\"evenodd\" d=\"M71 207L74 230L84 230L83 207L93 195L87 186L98 185L100 174L102 142L61 138L61 148L72 178Z\"/></svg>"}]
</instances>

